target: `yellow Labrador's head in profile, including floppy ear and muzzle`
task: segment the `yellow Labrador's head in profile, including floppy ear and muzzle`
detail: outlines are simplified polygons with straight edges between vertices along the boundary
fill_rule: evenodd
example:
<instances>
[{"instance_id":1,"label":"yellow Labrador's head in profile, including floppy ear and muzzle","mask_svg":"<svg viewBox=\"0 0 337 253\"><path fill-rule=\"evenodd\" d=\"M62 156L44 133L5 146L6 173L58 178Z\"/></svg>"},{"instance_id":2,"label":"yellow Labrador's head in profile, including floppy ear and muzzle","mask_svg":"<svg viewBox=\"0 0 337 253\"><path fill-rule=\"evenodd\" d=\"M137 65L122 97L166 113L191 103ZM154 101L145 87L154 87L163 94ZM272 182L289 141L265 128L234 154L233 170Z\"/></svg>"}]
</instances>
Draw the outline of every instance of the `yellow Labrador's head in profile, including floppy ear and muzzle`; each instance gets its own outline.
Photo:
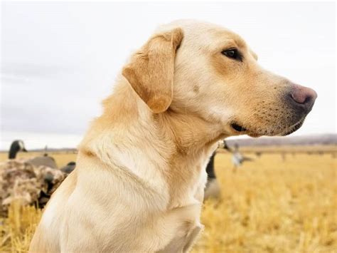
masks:
<instances>
[{"instance_id":1,"label":"yellow Labrador's head in profile, including floppy ear and muzzle","mask_svg":"<svg viewBox=\"0 0 337 253\"><path fill-rule=\"evenodd\" d=\"M196 21L162 26L122 73L154 113L198 115L224 135L292 133L317 96L261 68L237 34Z\"/></svg>"}]
</instances>

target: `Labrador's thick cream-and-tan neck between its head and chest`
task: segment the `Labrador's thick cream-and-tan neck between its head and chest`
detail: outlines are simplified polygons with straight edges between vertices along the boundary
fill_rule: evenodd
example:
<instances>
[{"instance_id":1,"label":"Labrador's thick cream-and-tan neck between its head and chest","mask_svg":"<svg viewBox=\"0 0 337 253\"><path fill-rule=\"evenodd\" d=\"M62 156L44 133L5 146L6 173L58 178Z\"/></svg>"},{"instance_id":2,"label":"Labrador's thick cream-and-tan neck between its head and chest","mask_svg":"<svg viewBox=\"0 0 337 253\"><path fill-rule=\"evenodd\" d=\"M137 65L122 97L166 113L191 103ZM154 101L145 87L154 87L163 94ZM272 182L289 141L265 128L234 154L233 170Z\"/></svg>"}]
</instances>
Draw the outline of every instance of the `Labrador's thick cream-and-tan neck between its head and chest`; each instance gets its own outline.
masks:
<instances>
[{"instance_id":1,"label":"Labrador's thick cream-and-tan neck between its head and chest","mask_svg":"<svg viewBox=\"0 0 337 253\"><path fill-rule=\"evenodd\" d=\"M80 151L127 167L158 190L166 185L171 205L181 205L174 200L200 183L220 134L196 115L171 109L151 113L125 81L119 81L103 105Z\"/></svg>"}]
</instances>

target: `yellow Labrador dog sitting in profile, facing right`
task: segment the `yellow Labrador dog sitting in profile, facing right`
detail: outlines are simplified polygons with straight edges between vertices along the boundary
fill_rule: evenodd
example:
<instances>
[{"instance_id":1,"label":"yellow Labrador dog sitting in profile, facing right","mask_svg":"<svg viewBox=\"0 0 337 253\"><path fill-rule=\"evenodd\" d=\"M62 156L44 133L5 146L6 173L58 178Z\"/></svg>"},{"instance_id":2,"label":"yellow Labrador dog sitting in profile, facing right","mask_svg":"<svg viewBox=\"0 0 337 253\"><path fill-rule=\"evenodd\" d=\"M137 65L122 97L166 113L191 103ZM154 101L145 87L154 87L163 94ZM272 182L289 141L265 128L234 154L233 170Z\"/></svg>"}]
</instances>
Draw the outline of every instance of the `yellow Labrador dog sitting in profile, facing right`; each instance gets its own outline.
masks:
<instances>
[{"instance_id":1,"label":"yellow Labrador dog sitting in profile, facing right","mask_svg":"<svg viewBox=\"0 0 337 253\"><path fill-rule=\"evenodd\" d=\"M30 252L188 251L218 140L292 133L315 99L261 68L232 31L161 26L122 69Z\"/></svg>"}]
</instances>

